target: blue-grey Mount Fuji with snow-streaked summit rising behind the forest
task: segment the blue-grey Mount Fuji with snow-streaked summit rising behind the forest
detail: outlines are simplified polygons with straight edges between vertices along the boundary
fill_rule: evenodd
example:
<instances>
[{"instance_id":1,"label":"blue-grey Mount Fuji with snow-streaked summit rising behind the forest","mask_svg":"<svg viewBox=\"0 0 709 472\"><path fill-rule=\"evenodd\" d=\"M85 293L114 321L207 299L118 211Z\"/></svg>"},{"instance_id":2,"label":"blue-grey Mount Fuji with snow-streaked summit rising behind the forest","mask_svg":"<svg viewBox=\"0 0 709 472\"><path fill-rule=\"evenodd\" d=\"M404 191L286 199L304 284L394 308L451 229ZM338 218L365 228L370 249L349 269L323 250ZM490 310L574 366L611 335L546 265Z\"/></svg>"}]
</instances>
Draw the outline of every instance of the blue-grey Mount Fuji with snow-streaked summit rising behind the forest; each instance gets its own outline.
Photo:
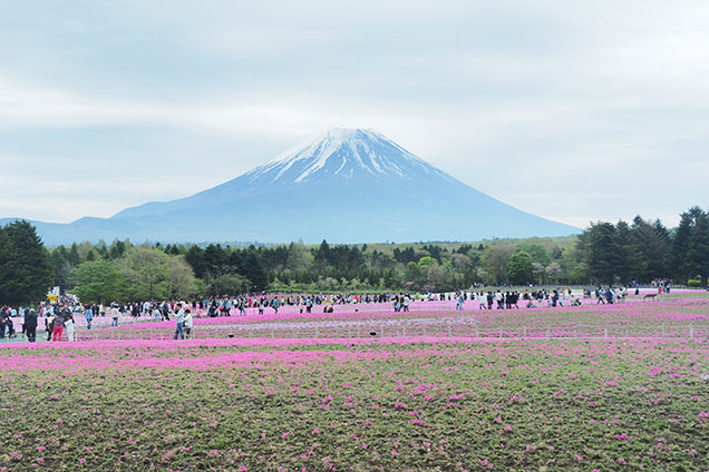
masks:
<instances>
[{"instance_id":1,"label":"blue-grey Mount Fuji with snow-streaked summit rising behind the forest","mask_svg":"<svg viewBox=\"0 0 709 472\"><path fill-rule=\"evenodd\" d=\"M480 240L577 228L506 205L371 129L315 140L196 195L67 225L36 222L46 243Z\"/></svg>"}]
</instances>

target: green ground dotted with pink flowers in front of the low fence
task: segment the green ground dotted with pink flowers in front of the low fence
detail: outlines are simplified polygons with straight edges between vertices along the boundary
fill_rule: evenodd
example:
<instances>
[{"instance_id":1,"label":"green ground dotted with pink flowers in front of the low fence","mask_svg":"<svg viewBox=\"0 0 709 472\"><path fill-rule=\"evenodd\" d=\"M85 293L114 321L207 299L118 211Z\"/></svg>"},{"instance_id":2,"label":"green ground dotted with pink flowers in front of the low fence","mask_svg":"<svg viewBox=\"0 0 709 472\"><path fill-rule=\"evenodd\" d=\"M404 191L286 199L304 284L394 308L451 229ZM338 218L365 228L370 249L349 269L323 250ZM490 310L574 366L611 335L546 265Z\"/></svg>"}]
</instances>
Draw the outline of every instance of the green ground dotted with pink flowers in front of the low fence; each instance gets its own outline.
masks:
<instances>
[{"instance_id":1,"label":"green ground dotted with pink flowers in front of the low fence","mask_svg":"<svg viewBox=\"0 0 709 472\"><path fill-rule=\"evenodd\" d=\"M708 364L661 336L2 346L0 470L706 471Z\"/></svg>"}]
</instances>

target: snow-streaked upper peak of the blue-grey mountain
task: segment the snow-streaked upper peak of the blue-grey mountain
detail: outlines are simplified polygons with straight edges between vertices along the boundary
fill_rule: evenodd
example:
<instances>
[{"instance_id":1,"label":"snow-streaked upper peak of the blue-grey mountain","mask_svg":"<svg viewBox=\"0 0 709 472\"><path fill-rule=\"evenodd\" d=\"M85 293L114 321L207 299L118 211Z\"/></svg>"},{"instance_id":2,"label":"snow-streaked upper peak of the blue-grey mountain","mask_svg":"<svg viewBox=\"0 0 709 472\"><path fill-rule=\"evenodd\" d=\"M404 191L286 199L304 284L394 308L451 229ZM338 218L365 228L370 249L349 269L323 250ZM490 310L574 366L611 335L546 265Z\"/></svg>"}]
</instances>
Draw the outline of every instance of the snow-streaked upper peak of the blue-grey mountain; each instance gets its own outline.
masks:
<instances>
[{"instance_id":1,"label":"snow-streaked upper peak of the blue-grey mountain","mask_svg":"<svg viewBox=\"0 0 709 472\"><path fill-rule=\"evenodd\" d=\"M301 184L326 175L409 179L418 173L450 178L373 129L332 128L246 175L250 181Z\"/></svg>"}]
</instances>

